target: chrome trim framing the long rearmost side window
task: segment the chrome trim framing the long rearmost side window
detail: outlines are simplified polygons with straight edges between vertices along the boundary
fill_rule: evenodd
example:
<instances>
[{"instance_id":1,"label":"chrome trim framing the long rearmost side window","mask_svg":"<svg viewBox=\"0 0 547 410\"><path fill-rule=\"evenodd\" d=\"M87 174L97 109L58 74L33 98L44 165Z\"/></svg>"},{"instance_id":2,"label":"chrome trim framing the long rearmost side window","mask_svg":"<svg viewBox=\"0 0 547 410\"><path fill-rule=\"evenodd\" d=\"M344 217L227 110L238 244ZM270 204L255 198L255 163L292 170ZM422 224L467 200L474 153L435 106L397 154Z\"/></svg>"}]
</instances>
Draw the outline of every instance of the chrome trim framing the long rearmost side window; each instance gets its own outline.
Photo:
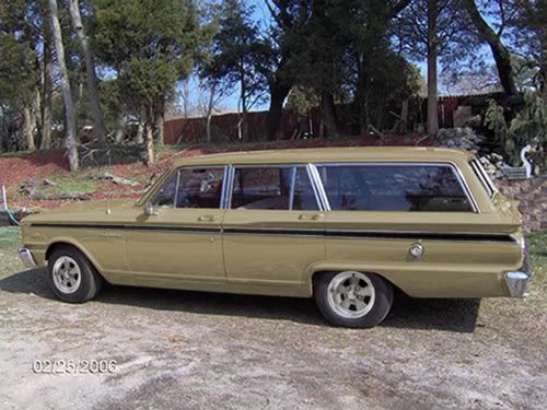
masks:
<instances>
[{"instance_id":1,"label":"chrome trim framing the long rearmost side window","mask_svg":"<svg viewBox=\"0 0 547 410\"><path fill-rule=\"evenodd\" d=\"M472 189L469 188L469 185L467 184L467 179L465 176L462 174L462 171L459 167L452 161L434 161L434 162L418 162L418 161L362 161L362 162L317 162L313 164L313 166L317 171L317 176L319 177L321 180L321 186L323 187L323 180L321 179L321 174L318 172L319 166L366 166L366 165L385 165L385 166L400 166L400 165L407 165L407 166L450 166L454 174L456 175L456 178L463 188L463 191L469 201L473 212L474 213L480 213L480 209L478 207L478 203L475 199L475 196L473 195ZM324 189L324 187L323 187ZM325 191L326 196L326 191ZM328 201L328 198L327 198ZM327 202L328 203L328 202ZM330 207L328 208L330 210ZM366 211L361 211L361 212L366 212ZM389 211L391 212L391 211ZM400 212L408 212L408 211L400 211Z\"/></svg>"}]
</instances>

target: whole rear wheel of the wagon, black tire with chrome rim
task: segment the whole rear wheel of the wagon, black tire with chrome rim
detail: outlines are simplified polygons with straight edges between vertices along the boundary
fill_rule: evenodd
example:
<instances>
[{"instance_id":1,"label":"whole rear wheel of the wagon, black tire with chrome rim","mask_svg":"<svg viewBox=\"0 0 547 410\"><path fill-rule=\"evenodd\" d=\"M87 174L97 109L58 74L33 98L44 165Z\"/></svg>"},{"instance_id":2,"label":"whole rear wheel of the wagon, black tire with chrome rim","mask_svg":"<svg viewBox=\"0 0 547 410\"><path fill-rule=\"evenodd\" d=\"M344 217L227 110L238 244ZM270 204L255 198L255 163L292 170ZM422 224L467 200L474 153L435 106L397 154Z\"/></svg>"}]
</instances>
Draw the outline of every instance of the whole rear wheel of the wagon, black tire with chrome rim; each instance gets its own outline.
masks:
<instances>
[{"instance_id":1,"label":"whole rear wheel of the wagon, black tire with chrome rim","mask_svg":"<svg viewBox=\"0 0 547 410\"><path fill-rule=\"evenodd\" d=\"M314 282L314 297L335 326L368 328L381 324L393 304L393 286L374 273L328 272Z\"/></svg>"}]
</instances>

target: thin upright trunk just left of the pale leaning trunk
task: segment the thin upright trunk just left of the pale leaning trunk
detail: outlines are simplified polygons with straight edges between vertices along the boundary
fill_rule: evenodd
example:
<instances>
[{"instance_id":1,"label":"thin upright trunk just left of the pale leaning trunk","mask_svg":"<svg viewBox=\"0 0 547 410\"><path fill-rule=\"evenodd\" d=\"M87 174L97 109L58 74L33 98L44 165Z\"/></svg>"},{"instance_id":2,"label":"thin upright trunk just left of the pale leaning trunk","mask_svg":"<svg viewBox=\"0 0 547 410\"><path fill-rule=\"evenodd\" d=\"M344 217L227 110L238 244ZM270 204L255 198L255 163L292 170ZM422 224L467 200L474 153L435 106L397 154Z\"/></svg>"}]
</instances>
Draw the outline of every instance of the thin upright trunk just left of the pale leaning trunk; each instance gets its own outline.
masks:
<instances>
[{"instance_id":1,"label":"thin upright trunk just left of the pale leaning trunk","mask_svg":"<svg viewBox=\"0 0 547 410\"><path fill-rule=\"evenodd\" d=\"M54 94L54 60L51 55L51 27L50 12L47 7L44 8L44 83L42 104L42 144L43 150L51 148L51 110Z\"/></svg>"}]
</instances>

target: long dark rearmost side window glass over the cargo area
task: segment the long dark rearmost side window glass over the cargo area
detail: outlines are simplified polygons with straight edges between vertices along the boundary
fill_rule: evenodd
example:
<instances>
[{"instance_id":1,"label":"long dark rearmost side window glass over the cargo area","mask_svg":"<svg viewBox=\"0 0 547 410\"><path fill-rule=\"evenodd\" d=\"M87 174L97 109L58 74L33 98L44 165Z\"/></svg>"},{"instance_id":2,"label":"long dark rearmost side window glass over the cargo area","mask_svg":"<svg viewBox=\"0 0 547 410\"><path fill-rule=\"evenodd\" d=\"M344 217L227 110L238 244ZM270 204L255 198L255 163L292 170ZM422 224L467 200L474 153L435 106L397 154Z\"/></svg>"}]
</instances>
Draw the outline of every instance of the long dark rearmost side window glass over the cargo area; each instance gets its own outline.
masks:
<instances>
[{"instance_id":1,"label":"long dark rearmost side window glass over the cargo area","mask_svg":"<svg viewBox=\"0 0 547 410\"><path fill-rule=\"evenodd\" d=\"M319 165L333 210L473 211L466 191L450 165Z\"/></svg>"}]
</instances>

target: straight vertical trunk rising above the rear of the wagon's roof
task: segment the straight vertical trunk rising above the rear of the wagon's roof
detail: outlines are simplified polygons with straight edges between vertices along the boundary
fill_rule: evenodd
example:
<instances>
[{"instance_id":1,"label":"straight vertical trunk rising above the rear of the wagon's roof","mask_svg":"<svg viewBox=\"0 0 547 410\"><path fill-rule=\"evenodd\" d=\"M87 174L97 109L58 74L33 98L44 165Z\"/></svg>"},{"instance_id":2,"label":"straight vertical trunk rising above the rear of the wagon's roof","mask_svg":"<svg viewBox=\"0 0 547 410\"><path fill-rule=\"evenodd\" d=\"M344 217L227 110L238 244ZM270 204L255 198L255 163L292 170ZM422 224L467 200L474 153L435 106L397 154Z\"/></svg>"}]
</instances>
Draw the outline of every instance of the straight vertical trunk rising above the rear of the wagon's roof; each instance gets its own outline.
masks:
<instances>
[{"instance_id":1,"label":"straight vertical trunk rising above the rear of the wagon's roof","mask_svg":"<svg viewBox=\"0 0 547 410\"><path fill-rule=\"evenodd\" d=\"M437 77L437 0L428 3L428 136L439 132L439 92Z\"/></svg>"}]
</instances>

